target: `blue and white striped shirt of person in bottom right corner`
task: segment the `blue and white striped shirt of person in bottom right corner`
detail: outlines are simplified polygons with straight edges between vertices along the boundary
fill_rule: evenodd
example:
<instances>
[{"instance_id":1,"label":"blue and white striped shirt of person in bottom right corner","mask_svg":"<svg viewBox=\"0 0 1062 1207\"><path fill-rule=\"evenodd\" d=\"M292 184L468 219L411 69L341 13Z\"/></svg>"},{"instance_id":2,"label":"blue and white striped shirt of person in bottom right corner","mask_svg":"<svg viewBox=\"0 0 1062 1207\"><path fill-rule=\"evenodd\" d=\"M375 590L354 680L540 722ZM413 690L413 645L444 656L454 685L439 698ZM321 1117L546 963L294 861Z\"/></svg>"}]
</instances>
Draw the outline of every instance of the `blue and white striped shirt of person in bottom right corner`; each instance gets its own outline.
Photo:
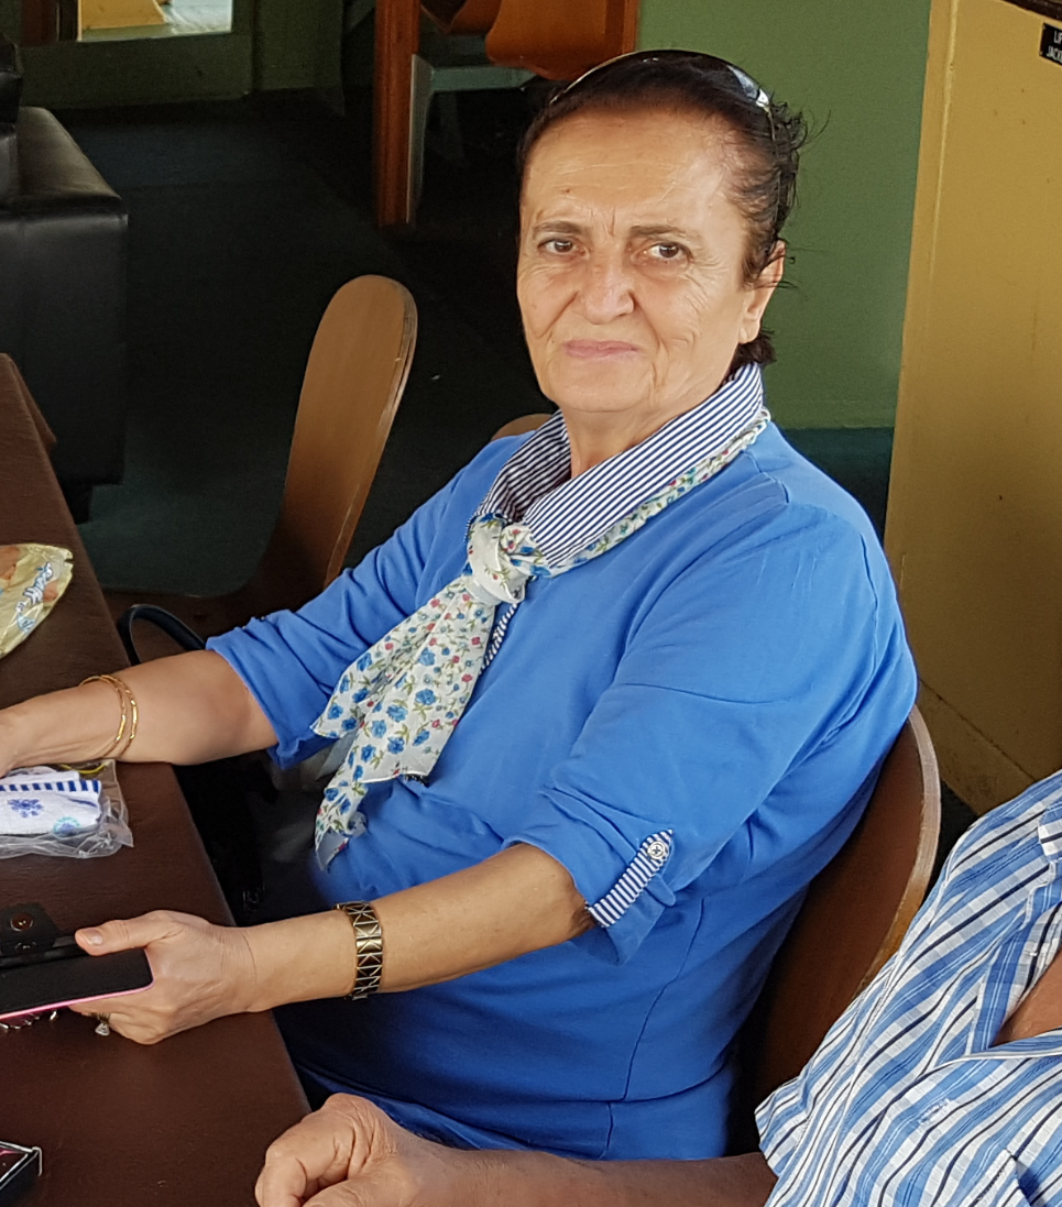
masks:
<instances>
[{"instance_id":1,"label":"blue and white striped shirt of person in bottom right corner","mask_svg":"<svg viewBox=\"0 0 1062 1207\"><path fill-rule=\"evenodd\" d=\"M1062 946L1062 772L957 845L899 952L759 1108L769 1207L1062 1205L1062 1028L993 1046Z\"/></svg>"}]
</instances>

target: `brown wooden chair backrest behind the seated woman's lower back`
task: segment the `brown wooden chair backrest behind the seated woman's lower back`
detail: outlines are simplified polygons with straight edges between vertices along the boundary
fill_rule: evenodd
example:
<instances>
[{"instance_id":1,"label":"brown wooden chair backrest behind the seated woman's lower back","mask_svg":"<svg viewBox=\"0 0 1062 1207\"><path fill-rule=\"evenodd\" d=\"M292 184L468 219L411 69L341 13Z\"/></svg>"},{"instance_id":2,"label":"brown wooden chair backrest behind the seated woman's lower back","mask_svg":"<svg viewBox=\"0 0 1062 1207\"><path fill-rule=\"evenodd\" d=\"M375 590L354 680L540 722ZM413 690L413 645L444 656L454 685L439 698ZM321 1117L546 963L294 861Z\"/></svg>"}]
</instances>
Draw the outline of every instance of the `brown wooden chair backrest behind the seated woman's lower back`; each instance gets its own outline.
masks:
<instances>
[{"instance_id":1,"label":"brown wooden chair backrest behind the seated woman's lower back","mask_svg":"<svg viewBox=\"0 0 1062 1207\"><path fill-rule=\"evenodd\" d=\"M915 709L862 821L812 881L771 966L742 1038L751 1104L800 1072L897 950L929 887L939 833L936 756Z\"/></svg>"}]
</instances>

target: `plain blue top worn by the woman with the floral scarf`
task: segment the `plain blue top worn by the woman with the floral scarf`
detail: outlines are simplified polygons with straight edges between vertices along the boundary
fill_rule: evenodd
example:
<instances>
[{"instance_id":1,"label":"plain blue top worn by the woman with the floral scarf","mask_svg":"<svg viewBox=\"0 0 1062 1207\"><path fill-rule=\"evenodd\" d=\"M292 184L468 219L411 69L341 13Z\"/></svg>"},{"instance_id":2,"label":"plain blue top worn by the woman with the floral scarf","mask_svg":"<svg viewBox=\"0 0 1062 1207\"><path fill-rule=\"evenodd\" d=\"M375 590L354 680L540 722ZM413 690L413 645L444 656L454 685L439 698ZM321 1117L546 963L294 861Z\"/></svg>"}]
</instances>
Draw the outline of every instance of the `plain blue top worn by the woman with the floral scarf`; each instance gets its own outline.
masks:
<instances>
[{"instance_id":1,"label":"plain blue top worn by the woman with the floral scarf","mask_svg":"<svg viewBox=\"0 0 1062 1207\"><path fill-rule=\"evenodd\" d=\"M513 441L489 445L319 599L211 642L282 764L348 664L451 581ZM723 1151L729 1046L805 885L847 838L915 698L863 512L771 426L602 558L532 579L426 783L298 909L372 899L513 842L588 902L647 838L671 853L613 925L486 972L287 1007L296 1061L456 1144L588 1158ZM293 903L294 908L294 903Z\"/></svg>"}]
</instances>

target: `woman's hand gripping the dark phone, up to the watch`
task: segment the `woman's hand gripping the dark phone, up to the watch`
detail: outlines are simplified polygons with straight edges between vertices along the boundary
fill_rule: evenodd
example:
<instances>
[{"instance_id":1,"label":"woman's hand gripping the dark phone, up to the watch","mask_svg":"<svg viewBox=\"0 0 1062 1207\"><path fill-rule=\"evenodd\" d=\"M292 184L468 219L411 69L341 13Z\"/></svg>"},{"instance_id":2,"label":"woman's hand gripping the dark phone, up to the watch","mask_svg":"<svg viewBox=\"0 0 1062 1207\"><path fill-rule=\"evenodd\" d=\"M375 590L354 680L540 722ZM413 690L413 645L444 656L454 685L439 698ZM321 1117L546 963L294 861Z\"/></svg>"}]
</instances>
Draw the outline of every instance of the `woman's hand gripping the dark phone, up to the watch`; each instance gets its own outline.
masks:
<instances>
[{"instance_id":1,"label":"woman's hand gripping the dark phone, up to the watch","mask_svg":"<svg viewBox=\"0 0 1062 1207\"><path fill-rule=\"evenodd\" d=\"M189 914L156 910L128 921L78 931L77 944L93 956L142 947L154 984L139 993L72 1007L106 1014L112 1030L140 1044L249 1008L255 961L244 931L212 926Z\"/></svg>"}]
</instances>

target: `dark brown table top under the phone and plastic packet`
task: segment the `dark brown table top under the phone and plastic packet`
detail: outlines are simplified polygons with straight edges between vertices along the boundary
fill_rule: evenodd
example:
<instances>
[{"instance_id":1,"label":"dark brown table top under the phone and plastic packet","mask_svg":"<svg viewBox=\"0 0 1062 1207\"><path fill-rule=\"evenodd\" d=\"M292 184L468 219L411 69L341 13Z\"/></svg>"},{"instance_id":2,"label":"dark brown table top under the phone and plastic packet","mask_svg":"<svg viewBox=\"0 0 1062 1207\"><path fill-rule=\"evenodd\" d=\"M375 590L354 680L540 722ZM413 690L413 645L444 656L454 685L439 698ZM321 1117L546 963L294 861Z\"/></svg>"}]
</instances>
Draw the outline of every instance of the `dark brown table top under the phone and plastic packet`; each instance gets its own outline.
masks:
<instances>
[{"instance_id":1,"label":"dark brown table top under the phone and plastic packet","mask_svg":"<svg viewBox=\"0 0 1062 1207\"><path fill-rule=\"evenodd\" d=\"M65 596L0 659L0 706L126 665L45 432L0 356L0 544L74 552ZM103 859L0 861L0 905L40 902L63 929L162 908L228 921L171 769L130 764L121 779L135 846ZM269 1015L220 1019L153 1048L101 1038L69 1011L0 1033L0 1138L45 1154L25 1207L251 1205L266 1147L305 1110Z\"/></svg>"}]
</instances>

